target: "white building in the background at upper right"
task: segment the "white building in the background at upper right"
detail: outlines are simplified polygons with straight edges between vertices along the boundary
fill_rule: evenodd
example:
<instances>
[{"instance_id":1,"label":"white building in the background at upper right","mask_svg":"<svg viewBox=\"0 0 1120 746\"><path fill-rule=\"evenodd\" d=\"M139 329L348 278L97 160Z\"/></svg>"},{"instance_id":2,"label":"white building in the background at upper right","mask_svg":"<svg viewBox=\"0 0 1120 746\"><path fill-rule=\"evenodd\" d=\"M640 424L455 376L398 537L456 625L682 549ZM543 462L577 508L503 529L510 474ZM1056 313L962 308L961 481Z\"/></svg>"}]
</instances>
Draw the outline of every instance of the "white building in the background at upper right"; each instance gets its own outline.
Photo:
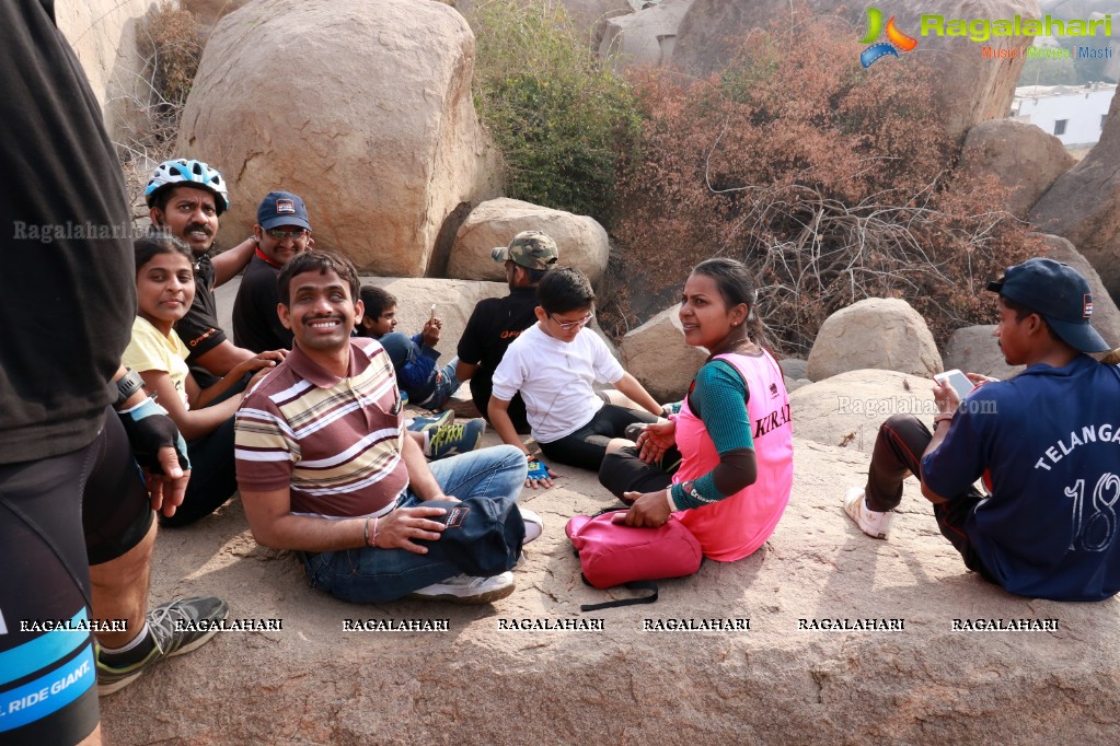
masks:
<instances>
[{"instance_id":1,"label":"white building in the background at upper right","mask_svg":"<svg viewBox=\"0 0 1120 746\"><path fill-rule=\"evenodd\" d=\"M1049 132L1066 148L1093 145L1116 89L1112 83L1024 86L1015 89L1011 117Z\"/></svg>"}]
</instances>

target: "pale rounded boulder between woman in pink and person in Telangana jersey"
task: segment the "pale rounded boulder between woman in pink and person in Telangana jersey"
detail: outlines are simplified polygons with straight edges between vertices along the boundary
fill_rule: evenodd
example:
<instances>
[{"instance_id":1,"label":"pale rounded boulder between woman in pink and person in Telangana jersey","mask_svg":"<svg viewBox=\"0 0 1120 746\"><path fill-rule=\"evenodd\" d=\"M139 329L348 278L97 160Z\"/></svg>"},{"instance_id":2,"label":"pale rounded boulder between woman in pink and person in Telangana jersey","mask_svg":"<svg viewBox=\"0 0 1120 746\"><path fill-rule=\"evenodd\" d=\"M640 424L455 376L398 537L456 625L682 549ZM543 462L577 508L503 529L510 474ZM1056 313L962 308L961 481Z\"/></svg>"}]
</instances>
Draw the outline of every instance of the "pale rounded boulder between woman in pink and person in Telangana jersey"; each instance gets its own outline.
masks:
<instances>
[{"instance_id":1,"label":"pale rounded boulder between woman in pink and person in Telangana jersey","mask_svg":"<svg viewBox=\"0 0 1120 746\"><path fill-rule=\"evenodd\" d=\"M809 351L810 380L879 368L928 378L942 371L941 353L925 319L896 298L868 298L821 324Z\"/></svg>"}]
</instances>

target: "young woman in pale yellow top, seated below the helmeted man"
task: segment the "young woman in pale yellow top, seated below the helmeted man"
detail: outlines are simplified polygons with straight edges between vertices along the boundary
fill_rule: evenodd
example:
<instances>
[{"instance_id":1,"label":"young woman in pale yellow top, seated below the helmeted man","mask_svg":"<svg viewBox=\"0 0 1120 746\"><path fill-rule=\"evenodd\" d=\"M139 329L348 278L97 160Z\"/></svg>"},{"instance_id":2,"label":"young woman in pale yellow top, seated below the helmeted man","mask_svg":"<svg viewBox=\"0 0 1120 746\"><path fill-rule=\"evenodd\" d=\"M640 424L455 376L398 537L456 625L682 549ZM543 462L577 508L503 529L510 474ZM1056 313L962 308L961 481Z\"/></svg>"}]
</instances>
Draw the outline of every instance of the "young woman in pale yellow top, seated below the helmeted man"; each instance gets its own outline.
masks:
<instances>
[{"instance_id":1,"label":"young woman in pale yellow top, seated below the helmeted man","mask_svg":"<svg viewBox=\"0 0 1120 746\"><path fill-rule=\"evenodd\" d=\"M175 332L195 296L190 249L178 238L156 234L137 239L137 306L132 339L123 362L143 378L144 388L187 441L190 481L183 504L165 526L186 526L208 516L237 490L233 461L233 415L258 379L283 360L282 350L245 360L206 389L187 368L187 347ZM243 389L251 371L259 371Z\"/></svg>"}]
</instances>

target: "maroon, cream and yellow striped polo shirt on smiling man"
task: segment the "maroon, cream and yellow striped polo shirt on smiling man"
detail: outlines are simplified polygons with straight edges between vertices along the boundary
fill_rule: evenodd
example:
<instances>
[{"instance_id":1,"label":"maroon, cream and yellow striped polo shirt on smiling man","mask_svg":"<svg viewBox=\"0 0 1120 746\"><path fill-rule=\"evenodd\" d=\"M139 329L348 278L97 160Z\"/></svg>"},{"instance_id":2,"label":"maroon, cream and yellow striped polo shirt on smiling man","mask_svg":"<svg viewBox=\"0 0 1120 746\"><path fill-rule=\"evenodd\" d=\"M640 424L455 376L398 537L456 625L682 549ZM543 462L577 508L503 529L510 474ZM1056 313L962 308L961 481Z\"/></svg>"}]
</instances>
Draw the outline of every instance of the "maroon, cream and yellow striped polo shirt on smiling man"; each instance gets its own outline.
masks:
<instances>
[{"instance_id":1,"label":"maroon, cream and yellow striped polo shirt on smiling man","mask_svg":"<svg viewBox=\"0 0 1120 746\"><path fill-rule=\"evenodd\" d=\"M403 415L393 362L372 339L351 339L338 378L298 346L242 403L235 426L242 490L290 485L291 512L351 518L408 487Z\"/></svg>"}]
</instances>

